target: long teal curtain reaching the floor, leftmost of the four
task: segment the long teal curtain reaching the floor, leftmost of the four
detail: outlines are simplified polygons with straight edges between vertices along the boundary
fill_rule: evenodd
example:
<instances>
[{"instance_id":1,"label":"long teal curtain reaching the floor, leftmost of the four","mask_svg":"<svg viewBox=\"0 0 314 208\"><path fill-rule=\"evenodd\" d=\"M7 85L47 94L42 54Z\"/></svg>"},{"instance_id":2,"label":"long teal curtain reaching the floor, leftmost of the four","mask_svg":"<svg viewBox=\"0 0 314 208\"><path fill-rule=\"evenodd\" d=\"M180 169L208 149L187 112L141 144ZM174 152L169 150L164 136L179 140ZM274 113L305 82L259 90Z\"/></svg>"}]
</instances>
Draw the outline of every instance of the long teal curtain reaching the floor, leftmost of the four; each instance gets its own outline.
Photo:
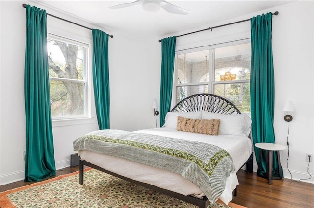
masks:
<instances>
[{"instance_id":1,"label":"long teal curtain reaching the floor, leftmost of the four","mask_svg":"<svg viewBox=\"0 0 314 208\"><path fill-rule=\"evenodd\" d=\"M45 10L26 6L24 180L29 182L55 175L46 19Z\"/></svg>"}]
</instances>

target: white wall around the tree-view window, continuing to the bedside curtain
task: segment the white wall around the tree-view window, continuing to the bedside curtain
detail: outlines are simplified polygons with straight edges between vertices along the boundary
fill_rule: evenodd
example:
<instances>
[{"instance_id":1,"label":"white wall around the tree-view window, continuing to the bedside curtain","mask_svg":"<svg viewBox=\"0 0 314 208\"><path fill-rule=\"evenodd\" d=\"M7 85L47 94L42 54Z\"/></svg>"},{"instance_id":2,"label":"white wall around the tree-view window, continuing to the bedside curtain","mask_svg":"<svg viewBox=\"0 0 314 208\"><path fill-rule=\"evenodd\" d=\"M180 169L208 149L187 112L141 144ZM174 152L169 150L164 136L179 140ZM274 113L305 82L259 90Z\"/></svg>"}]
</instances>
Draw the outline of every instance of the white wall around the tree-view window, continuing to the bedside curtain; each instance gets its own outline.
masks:
<instances>
[{"instance_id":1,"label":"white wall around the tree-view window, continuing to the bedside curtain","mask_svg":"<svg viewBox=\"0 0 314 208\"><path fill-rule=\"evenodd\" d=\"M46 9L90 28L77 18L28 1L0 1L0 185L24 179L23 151L26 147L24 107L24 59L26 11L23 3ZM98 28L102 29L102 28ZM110 126L123 130L155 127L152 102L159 101L159 37L129 37L106 31L109 38ZM92 43L91 31L53 17L47 17L47 32ZM90 86L92 88L92 86ZM53 122L56 168L70 165L72 142L98 129L93 96L92 117L76 122Z\"/></svg>"}]
</instances>

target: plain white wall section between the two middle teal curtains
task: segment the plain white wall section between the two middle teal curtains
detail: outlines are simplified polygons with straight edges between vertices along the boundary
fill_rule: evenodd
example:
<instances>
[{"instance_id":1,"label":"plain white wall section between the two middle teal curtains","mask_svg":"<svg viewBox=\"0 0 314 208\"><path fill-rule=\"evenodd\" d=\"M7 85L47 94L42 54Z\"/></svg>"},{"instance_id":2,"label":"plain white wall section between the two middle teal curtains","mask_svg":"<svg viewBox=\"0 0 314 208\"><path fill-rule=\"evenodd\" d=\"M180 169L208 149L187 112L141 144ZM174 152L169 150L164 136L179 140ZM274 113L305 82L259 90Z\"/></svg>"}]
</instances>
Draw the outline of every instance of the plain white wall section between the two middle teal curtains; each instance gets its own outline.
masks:
<instances>
[{"instance_id":1,"label":"plain white wall section between the two middle teal curtains","mask_svg":"<svg viewBox=\"0 0 314 208\"><path fill-rule=\"evenodd\" d=\"M161 67L158 37L130 41L115 35L113 39L110 42L110 128L135 131L155 127L152 102L159 103Z\"/></svg>"}]
</instances>

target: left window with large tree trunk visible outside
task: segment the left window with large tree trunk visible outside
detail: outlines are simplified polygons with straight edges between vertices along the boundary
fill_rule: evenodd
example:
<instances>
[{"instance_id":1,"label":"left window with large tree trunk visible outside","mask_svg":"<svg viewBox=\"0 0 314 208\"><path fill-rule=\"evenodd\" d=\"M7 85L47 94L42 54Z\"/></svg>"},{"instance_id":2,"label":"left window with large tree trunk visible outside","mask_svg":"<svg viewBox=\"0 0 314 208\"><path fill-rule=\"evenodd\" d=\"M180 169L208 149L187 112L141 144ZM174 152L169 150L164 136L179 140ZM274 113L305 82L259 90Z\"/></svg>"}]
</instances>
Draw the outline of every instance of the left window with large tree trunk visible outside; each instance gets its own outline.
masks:
<instances>
[{"instance_id":1,"label":"left window with large tree trunk visible outside","mask_svg":"<svg viewBox=\"0 0 314 208\"><path fill-rule=\"evenodd\" d=\"M47 49L52 119L88 117L88 44L49 34Z\"/></svg>"}]
</instances>

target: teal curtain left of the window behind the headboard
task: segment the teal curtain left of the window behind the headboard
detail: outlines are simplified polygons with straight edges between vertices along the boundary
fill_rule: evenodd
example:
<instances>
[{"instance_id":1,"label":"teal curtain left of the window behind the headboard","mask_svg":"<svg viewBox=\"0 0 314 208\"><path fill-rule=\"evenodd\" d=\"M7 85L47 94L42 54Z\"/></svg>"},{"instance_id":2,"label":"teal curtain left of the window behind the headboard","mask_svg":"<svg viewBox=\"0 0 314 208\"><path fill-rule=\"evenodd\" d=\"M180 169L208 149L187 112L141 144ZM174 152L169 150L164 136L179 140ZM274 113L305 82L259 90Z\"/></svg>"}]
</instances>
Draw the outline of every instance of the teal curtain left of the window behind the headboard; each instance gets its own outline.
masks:
<instances>
[{"instance_id":1,"label":"teal curtain left of the window behind the headboard","mask_svg":"<svg viewBox=\"0 0 314 208\"><path fill-rule=\"evenodd\" d=\"M171 107L175 48L175 36L161 40L160 127L165 123L166 114Z\"/></svg>"}]
</instances>

